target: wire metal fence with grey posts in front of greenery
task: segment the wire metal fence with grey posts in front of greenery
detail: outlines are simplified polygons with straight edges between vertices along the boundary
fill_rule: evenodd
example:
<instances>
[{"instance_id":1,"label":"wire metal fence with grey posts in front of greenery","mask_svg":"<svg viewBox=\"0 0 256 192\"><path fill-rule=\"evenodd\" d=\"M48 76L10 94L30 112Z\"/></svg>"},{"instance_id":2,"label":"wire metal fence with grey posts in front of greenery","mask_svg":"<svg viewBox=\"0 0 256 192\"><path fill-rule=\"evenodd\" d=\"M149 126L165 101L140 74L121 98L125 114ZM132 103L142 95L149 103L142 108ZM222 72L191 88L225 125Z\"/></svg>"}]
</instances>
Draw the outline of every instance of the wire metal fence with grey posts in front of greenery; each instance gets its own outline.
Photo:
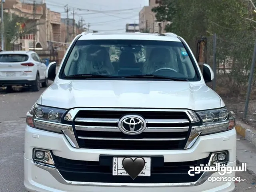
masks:
<instances>
[{"instance_id":1,"label":"wire metal fence with grey posts in front of greenery","mask_svg":"<svg viewBox=\"0 0 256 192\"><path fill-rule=\"evenodd\" d=\"M219 94L230 97L245 96L243 118L246 119L249 98L256 84L255 33L244 31L232 38L212 34L207 37L207 64L214 70L215 79L209 85Z\"/></svg>"}]
</instances>

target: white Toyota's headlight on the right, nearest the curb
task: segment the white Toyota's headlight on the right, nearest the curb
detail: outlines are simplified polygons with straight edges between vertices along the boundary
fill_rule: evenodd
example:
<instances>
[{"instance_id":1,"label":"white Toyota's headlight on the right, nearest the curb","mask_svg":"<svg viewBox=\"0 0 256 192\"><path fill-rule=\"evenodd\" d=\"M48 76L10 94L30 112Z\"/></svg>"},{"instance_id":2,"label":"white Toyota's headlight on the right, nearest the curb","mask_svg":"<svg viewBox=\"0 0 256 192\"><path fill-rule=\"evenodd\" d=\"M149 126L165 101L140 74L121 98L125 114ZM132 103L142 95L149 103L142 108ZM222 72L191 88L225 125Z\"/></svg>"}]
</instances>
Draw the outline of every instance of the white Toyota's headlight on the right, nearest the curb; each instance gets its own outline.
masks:
<instances>
[{"instance_id":1,"label":"white Toyota's headlight on the right, nearest the curb","mask_svg":"<svg viewBox=\"0 0 256 192\"><path fill-rule=\"evenodd\" d=\"M202 119L201 126L192 127L192 133L200 136L223 132L235 127L235 118L226 108L199 111L197 114Z\"/></svg>"}]
</instances>

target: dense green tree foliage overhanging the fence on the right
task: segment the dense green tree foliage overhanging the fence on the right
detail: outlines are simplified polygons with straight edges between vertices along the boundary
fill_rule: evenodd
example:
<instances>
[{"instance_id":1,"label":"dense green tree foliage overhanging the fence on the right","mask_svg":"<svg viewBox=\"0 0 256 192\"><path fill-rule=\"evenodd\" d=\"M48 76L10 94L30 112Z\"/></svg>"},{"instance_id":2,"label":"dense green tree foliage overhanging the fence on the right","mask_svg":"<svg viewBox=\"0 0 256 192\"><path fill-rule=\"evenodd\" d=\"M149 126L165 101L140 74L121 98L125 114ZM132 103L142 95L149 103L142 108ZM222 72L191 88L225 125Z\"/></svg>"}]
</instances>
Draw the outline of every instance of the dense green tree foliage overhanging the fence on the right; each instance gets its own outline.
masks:
<instances>
[{"instance_id":1,"label":"dense green tree foliage overhanging the fence on the right","mask_svg":"<svg viewBox=\"0 0 256 192\"><path fill-rule=\"evenodd\" d=\"M228 74L230 86L238 91L246 87L256 29L256 13L251 1L156 0L156 3L159 6L152 9L156 19L171 22L166 26L166 32L182 36L194 54L197 40L206 36L211 60L212 35L216 33L217 64L232 63Z\"/></svg>"}]
</instances>

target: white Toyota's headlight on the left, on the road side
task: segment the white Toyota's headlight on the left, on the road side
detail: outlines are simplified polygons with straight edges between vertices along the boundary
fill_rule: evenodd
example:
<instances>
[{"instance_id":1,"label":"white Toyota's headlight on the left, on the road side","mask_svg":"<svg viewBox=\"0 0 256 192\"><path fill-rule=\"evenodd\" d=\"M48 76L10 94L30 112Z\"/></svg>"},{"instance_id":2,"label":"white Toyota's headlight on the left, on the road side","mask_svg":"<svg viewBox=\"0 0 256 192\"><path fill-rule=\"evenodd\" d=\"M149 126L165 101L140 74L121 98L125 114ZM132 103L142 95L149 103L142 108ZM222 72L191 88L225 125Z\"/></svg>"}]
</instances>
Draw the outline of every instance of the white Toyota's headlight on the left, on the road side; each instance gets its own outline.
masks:
<instances>
[{"instance_id":1,"label":"white Toyota's headlight on the left, on the road side","mask_svg":"<svg viewBox=\"0 0 256 192\"><path fill-rule=\"evenodd\" d=\"M26 123L34 128L62 133L68 130L69 125L60 124L62 116L66 113L64 109L57 109L34 104L27 113Z\"/></svg>"}]
</instances>

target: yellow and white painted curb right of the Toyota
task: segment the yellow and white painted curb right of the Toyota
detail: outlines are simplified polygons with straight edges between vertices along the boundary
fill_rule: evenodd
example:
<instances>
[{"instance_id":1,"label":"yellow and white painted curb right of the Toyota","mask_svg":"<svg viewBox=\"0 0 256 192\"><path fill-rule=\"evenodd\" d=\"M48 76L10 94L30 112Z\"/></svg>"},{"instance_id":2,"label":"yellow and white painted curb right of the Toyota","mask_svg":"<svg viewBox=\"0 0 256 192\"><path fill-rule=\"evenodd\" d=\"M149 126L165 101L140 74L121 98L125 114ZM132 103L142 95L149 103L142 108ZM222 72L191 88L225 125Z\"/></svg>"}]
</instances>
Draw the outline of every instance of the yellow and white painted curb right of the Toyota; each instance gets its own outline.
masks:
<instances>
[{"instance_id":1,"label":"yellow and white painted curb right of the Toyota","mask_svg":"<svg viewBox=\"0 0 256 192\"><path fill-rule=\"evenodd\" d=\"M256 130L247 124L236 121L236 133L251 142L254 146L256 146Z\"/></svg>"}]
</instances>

